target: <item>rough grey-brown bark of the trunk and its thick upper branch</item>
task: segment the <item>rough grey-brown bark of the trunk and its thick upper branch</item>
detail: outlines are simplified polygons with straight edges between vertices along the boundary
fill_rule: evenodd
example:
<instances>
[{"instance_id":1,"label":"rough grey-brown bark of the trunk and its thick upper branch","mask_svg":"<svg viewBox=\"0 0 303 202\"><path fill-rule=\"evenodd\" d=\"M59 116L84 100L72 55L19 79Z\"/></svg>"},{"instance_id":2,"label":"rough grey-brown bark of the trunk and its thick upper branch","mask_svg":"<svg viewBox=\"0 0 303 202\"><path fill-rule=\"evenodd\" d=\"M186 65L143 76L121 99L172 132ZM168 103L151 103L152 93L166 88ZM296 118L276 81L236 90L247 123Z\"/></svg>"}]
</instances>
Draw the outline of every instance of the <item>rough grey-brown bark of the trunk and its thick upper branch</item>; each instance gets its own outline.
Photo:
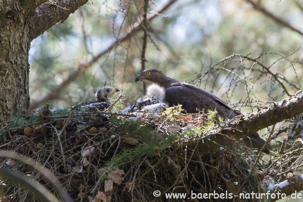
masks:
<instances>
[{"instance_id":1,"label":"rough grey-brown bark of the trunk and its thick upper branch","mask_svg":"<svg viewBox=\"0 0 303 202\"><path fill-rule=\"evenodd\" d=\"M0 123L29 107L30 42L87 1L0 1Z\"/></svg>"}]
</instances>

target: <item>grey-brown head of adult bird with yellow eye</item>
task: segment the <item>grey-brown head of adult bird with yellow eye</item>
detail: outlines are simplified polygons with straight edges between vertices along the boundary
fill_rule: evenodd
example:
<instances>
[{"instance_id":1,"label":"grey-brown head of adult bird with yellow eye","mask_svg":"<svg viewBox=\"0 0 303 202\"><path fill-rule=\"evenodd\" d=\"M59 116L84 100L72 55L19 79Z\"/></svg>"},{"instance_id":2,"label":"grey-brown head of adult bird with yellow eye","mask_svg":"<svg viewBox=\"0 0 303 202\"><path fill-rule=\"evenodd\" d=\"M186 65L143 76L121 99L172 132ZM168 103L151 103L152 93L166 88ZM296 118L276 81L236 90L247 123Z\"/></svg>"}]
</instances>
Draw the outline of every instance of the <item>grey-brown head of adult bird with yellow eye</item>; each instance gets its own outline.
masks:
<instances>
[{"instance_id":1,"label":"grey-brown head of adult bird with yellow eye","mask_svg":"<svg viewBox=\"0 0 303 202\"><path fill-rule=\"evenodd\" d=\"M159 71L158 69L145 69L141 71L141 73L136 78L137 81L142 81L143 83L146 83L148 85L151 85L153 83L159 84L159 81L162 81L161 78L165 77L165 75L162 73L162 71Z\"/></svg>"}]
</instances>

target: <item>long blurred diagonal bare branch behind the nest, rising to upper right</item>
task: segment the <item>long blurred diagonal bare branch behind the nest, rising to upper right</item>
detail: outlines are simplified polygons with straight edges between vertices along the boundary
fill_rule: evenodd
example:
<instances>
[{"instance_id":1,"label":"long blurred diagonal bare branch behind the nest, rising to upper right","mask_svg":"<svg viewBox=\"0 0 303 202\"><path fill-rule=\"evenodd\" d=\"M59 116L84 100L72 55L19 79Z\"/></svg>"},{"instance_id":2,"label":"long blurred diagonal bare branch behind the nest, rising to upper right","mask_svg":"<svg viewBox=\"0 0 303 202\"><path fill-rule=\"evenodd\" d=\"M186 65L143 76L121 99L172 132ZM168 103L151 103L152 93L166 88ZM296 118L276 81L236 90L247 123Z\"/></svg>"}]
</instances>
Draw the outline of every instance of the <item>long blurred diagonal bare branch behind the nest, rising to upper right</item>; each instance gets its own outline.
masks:
<instances>
[{"instance_id":1,"label":"long blurred diagonal bare branch behind the nest, rising to upper right","mask_svg":"<svg viewBox=\"0 0 303 202\"><path fill-rule=\"evenodd\" d=\"M147 20L150 21L156 16L158 16L159 13L164 12L170 5L175 3L177 0L170 0L167 4L164 6L158 6L154 10L152 10L149 15L147 15ZM142 28L142 22L136 22L133 26L128 28L126 31L124 31L121 34L121 37L118 38L115 42L113 42L106 50L102 51L97 55L96 57L92 58L91 61L86 62L85 64L80 64L79 67L75 72L73 72L69 77L62 82L62 84L58 85L56 88L54 88L49 94L44 96L43 98L40 98L37 101L32 101L30 104L30 107L28 111L32 111L35 108L38 107L39 104L53 100L53 99L58 99L60 97L60 92L66 88L72 81L75 81L79 76L81 76L89 67L91 67L98 59L100 59L103 55L111 51L116 45L119 43L129 39L133 34L135 34L137 31L139 31Z\"/></svg>"}]
</instances>

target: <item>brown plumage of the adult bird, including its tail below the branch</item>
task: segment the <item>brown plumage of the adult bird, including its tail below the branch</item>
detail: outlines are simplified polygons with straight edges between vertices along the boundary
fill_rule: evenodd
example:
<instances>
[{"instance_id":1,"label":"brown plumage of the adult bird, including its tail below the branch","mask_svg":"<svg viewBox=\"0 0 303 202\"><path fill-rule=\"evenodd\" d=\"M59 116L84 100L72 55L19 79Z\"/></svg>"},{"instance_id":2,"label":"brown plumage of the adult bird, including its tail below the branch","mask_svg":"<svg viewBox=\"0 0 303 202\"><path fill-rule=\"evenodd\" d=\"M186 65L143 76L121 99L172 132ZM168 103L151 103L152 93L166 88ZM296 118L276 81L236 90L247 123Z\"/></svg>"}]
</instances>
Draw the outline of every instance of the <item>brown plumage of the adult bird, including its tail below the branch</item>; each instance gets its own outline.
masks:
<instances>
[{"instance_id":1,"label":"brown plumage of the adult bird, including its tail below the branch","mask_svg":"<svg viewBox=\"0 0 303 202\"><path fill-rule=\"evenodd\" d=\"M234 118L241 114L239 110L230 108L228 104L214 94L198 86L169 78L157 69L145 69L137 76L135 81L142 81L148 85L155 83L164 87L165 101L168 102L169 106L182 104L182 108L187 113L198 113L198 111L203 109L207 112L209 109L212 111L216 110L218 115L223 118ZM265 140L257 132L246 137L244 142L247 146L258 148L259 150L265 144ZM269 154L269 150L271 150L270 145L263 152Z\"/></svg>"}]
</instances>

